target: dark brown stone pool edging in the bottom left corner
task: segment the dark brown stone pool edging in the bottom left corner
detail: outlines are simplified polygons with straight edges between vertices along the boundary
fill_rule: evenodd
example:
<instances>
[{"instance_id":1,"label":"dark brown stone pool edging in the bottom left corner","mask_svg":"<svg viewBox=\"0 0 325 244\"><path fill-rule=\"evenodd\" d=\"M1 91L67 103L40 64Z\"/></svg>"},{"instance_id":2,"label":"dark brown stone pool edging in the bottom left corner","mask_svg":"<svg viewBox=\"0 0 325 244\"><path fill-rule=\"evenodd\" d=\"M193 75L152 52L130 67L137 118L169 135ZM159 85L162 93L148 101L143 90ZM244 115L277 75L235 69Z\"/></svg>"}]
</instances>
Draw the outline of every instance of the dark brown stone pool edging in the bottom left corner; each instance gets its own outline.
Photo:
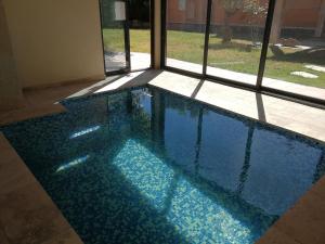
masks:
<instances>
[{"instance_id":1,"label":"dark brown stone pool edging in the bottom left corner","mask_svg":"<svg viewBox=\"0 0 325 244\"><path fill-rule=\"evenodd\" d=\"M0 132L0 243L82 241Z\"/></svg>"}]
</instances>

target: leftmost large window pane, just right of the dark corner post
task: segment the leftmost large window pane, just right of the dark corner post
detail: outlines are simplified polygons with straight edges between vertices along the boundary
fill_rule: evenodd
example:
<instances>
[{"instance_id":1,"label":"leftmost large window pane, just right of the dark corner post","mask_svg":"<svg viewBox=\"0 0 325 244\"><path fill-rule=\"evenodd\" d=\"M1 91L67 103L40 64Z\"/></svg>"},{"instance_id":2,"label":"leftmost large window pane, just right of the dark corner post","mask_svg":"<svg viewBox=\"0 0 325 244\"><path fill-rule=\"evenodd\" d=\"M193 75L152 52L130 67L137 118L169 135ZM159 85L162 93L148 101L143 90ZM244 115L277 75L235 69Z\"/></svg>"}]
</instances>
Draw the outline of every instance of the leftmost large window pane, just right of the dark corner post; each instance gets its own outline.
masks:
<instances>
[{"instance_id":1,"label":"leftmost large window pane, just right of the dark corner post","mask_svg":"<svg viewBox=\"0 0 325 244\"><path fill-rule=\"evenodd\" d=\"M167 0L166 65L203 72L207 0Z\"/></svg>"}]
</instances>

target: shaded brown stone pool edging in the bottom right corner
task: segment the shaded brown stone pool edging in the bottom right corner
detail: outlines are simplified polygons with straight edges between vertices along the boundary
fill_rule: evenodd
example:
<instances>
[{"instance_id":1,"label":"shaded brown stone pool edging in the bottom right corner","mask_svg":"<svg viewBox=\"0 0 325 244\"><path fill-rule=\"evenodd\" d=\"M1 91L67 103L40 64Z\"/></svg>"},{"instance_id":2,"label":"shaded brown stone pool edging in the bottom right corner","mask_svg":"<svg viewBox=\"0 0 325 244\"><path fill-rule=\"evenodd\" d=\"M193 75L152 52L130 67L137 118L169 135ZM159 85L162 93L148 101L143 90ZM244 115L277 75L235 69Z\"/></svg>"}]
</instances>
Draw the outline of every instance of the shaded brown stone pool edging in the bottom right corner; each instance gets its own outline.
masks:
<instances>
[{"instance_id":1,"label":"shaded brown stone pool edging in the bottom right corner","mask_svg":"<svg viewBox=\"0 0 325 244\"><path fill-rule=\"evenodd\" d=\"M287 210L258 244L325 243L325 177Z\"/></svg>"}]
</instances>

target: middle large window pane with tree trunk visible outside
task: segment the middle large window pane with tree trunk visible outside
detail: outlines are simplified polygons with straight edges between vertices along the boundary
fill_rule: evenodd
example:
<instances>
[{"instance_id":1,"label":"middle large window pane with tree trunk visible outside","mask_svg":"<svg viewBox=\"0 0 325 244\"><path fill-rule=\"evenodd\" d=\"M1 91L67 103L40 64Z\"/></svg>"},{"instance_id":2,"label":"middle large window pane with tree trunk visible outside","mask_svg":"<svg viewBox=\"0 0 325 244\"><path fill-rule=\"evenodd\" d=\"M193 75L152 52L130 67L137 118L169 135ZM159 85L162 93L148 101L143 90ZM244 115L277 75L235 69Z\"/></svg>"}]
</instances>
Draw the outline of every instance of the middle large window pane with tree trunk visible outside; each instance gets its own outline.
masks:
<instances>
[{"instance_id":1,"label":"middle large window pane with tree trunk visible outside","mask_svg":"<svg viewBox=\"0 0 325 244\"><path fill-rule=\"evenodd\" d=\"M207 74L256 85L269 0L212 0Z\"/></svg>"}]
</instances>

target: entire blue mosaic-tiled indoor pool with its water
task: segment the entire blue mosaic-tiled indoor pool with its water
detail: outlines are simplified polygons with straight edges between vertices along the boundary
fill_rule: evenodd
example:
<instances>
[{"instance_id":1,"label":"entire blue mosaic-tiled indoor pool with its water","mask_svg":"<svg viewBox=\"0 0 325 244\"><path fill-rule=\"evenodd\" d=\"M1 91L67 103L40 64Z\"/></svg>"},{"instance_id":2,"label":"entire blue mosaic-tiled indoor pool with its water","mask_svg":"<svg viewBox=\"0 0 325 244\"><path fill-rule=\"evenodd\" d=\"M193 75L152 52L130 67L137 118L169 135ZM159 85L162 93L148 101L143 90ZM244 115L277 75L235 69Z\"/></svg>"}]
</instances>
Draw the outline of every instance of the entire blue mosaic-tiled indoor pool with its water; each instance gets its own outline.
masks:
<instances>
[{"instance_id":1,"label":"entire blue mosaic-tiled indoor pool with its water","mask_svg":"<svg viewBox=\"0 0 325 244\"><path fill-rule=\"evenodd\" d=\"M84 243L252 243L320 179L324 144L157 89L1 128Z\"/></svg>"}]
</instances>

